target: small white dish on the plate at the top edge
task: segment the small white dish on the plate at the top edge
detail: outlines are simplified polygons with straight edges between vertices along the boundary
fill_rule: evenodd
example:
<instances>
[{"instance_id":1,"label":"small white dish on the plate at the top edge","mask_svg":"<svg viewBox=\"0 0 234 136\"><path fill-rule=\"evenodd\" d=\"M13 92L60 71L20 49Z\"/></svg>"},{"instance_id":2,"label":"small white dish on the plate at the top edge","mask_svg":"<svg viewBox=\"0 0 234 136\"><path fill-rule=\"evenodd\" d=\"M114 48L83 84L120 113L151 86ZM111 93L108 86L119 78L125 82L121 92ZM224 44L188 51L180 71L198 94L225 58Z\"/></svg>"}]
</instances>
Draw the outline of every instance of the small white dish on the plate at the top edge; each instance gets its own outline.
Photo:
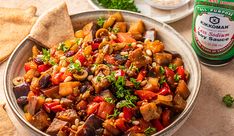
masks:
<instances>
[{"instance_id":1,"label":"small white dish on the plate at the top edge","mask_svg":"<svg viewBox=\"0 0 234 136\"><path fill-rule=\"evenodd\" d=\"M145 0L147 4L154 8L172 10L184 6L190 0Z\"/></svg>"}]
</instances>

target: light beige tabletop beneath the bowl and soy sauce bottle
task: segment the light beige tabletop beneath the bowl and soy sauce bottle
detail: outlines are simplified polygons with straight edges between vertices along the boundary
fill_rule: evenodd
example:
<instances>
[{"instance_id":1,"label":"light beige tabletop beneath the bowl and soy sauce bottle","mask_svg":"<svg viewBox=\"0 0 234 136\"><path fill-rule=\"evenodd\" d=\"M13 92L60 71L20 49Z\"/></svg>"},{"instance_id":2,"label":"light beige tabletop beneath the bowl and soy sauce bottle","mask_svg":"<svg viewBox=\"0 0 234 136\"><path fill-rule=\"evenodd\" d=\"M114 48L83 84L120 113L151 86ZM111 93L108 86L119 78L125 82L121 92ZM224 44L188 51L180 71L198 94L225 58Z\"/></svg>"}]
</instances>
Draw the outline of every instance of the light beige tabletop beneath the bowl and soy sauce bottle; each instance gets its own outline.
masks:
<instances>
[{"instance_id":1,"label":"light beige tabletop beneath the bowl and soy sauce bottle","mask_svg":"<svg viewBox=\"0 0 234 136\"><path fill-rule=\"evenodd\" d=\"M37 7L37 15L54 6L60 0L0 0L0 7L26 8L30 5ZM69 13L93 10L87 0L66 0ZM175 28L191 43L192 15L169 24ZM1 28L1 26L0 26ZM2 45L1 45L2 46ZM6 102L3 92L3 73L6 62L0 65L0 103ZM202 83L200 93L192 112L186 123L174 134L174 136L231 136L234 135L234 108L226 108L221 102L222 96L227 93L234 95L234 62L224 67L202 67ZM30 136L13 116L8 105L7 113L16 126L11 133L5 131L5 135ZM0 118L1 119L1 118ZM1 120L0 120L1 121ZM4 124L0 124L1 125ZM9 128L11 129L11 128ZM1 129L0 129L1 130ZM4 134L4 132L0 132Z\"/></svg>"}]
</instances>

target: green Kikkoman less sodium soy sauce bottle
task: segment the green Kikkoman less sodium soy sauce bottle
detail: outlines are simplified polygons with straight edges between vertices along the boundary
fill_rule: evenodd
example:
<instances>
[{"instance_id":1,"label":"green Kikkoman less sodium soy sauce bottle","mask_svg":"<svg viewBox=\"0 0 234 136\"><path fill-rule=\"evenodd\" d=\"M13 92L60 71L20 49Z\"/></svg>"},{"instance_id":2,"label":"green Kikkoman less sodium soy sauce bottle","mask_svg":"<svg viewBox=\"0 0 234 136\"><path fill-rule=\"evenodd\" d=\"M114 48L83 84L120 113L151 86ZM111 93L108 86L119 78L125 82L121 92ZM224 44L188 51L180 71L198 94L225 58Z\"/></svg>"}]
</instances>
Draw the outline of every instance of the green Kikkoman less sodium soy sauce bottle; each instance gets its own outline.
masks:
<instances>
[{"instance_id":1,"label":"green Kikkoman less sodium soy sauce bottle","mask_svg":"<svg viewBox=\"0 0 234 136\"><path fill-rule=\"evenodd\" d=\"M195 0L192 47L202 63L222 66L234 58L234 0Z\"/></svg>"}]
</instances>

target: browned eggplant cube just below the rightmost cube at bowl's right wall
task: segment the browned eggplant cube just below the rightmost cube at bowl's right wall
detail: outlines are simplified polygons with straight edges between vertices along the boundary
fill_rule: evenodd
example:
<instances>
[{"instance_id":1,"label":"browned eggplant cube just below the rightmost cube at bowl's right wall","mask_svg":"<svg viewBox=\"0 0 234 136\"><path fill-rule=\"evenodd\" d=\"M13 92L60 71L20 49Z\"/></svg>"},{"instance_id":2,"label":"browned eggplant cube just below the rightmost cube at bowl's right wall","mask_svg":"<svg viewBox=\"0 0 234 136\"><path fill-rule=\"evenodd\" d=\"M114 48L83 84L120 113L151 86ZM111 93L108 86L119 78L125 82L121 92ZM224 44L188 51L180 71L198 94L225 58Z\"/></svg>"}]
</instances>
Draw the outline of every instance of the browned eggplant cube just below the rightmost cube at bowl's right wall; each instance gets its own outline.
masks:
<instances>
[{"instance_id":1,"label":"browned eggplant cube just below the rightmost cube at bowl's right wall","mask_svg":"<svg viewBox=\"0 0 234 136\"><path fill-rule=\"evenodd\" d=\"M176 112L182 112L187 104L187 102L178 93L176 93L176 95L174 96L173 102Z\"/></svg>"}]
</instances>

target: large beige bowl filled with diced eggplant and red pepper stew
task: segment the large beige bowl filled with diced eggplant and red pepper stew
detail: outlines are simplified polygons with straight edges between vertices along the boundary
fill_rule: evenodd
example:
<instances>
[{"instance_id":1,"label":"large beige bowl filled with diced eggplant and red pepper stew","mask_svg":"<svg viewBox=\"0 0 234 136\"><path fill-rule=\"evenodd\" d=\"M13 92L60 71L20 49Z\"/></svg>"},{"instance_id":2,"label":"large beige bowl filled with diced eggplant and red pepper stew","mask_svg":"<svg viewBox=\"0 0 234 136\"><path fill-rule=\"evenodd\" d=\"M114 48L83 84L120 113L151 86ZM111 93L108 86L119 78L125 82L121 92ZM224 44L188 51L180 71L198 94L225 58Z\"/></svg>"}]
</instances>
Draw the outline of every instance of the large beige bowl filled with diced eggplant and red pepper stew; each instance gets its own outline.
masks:
<instances>
[{"instance_id":1,"label":"large beige bowl filled with diced eggplant and red pepper stew","mask_svg":"<svg viewBox=\"0 0 234 136\"><path fill-rule=\"evenodd\" d=\"M171 135L189 117L201 69L157 20L120 10L71 16L75 38L45 49L28 37L11 55L7 101L34 135Z\"/></svg>"}]
</instances>

